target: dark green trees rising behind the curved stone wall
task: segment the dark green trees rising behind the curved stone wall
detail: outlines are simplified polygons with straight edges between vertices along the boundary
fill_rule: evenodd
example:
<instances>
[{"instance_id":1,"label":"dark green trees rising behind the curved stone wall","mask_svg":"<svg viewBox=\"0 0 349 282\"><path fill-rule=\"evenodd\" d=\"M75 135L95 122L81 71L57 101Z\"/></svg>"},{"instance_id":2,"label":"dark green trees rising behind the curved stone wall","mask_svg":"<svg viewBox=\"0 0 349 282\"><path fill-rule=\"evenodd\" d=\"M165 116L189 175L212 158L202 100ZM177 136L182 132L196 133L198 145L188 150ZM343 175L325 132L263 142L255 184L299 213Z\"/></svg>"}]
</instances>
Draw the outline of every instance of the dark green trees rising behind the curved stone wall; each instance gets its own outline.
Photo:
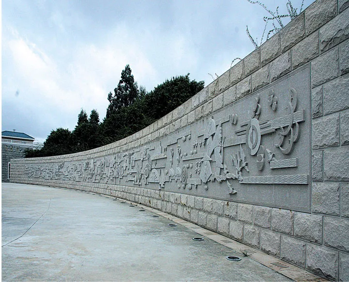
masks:
<instances>
[{"instance_id":1,"label":"dark green trees rising behind the curved stone wall","mask_svg":"<svg viewBox=\"0 0 349 282\"><path fill-rule=\"evenodd\" d=\"M81 109L73 131L52 130L41 149L27 149L27 158L55 156L94 149L123 139L142 130L173 111L204 88L204 81L190 80L189 73L172 77L150 92L138 86L129 65L121 72L114 93L108 94L106 117L92 110L90 116Z\"/></svg>"}]
</instances>

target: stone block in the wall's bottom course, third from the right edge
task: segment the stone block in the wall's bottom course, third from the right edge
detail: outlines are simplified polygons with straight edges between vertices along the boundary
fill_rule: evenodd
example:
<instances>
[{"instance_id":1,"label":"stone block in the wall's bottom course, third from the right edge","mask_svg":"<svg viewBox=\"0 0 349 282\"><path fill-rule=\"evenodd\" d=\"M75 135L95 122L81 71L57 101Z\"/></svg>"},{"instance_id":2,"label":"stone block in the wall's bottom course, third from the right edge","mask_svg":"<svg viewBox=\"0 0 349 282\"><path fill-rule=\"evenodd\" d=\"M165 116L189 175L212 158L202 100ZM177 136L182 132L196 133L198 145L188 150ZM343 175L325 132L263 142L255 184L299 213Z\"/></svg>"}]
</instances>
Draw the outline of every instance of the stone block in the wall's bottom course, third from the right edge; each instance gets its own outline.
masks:
<instances>
[{"instance_id":1,"label":"stone block in the wall's bottom course, third from the right edge","mask_svg":"<svg viewBox=\"0 0 349 282\"><path fill-rule=\"evenodd\" d=\"M305 267L305 242L281 235L280 257L292 264Z\"/></svg>"}]
</instances>

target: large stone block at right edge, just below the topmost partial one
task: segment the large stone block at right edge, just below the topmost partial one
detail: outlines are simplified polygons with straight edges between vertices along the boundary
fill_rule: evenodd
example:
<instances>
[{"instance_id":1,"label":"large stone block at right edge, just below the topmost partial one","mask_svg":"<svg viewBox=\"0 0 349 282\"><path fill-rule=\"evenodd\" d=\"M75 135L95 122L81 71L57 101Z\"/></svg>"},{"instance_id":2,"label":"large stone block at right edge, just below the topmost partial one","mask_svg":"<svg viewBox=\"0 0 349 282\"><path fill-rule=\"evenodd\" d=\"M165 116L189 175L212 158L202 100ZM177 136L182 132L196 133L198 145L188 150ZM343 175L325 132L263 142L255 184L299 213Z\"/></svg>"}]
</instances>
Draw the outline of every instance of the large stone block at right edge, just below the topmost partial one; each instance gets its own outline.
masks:
<instances>
[{"instance_id":1,"label":"large stone block at right edge, just below the topmost partial one","mask_svg":"<svg viewBox=\"0 0 349 282\"><path fill-rule=\"evenodd\" d=\"M319 30L320 53L349 37L349 10L345 10Z\"/></svg>"}]
</instances>

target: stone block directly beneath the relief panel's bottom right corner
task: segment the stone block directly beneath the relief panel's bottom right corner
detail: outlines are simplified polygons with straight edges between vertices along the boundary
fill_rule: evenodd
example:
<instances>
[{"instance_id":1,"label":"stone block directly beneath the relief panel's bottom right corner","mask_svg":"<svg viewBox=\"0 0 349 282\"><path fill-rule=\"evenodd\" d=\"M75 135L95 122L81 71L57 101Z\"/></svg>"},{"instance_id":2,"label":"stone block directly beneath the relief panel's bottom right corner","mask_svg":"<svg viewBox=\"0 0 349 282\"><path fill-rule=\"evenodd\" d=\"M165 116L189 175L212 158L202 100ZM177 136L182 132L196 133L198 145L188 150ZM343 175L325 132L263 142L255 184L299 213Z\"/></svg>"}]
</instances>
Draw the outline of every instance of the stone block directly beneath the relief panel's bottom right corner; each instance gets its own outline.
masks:
<instances>
[{"instance_id":1,"label":"stone block directly beneath the relief panel's bottom right corner","mask_svg":"<svg viewBox=\"0 0 349 282\"><path fill-rule=\"evenodd\" d=\"M322 216L296 212L294 234L295 237L321 244Z\"/></svg>"}]
</instances>

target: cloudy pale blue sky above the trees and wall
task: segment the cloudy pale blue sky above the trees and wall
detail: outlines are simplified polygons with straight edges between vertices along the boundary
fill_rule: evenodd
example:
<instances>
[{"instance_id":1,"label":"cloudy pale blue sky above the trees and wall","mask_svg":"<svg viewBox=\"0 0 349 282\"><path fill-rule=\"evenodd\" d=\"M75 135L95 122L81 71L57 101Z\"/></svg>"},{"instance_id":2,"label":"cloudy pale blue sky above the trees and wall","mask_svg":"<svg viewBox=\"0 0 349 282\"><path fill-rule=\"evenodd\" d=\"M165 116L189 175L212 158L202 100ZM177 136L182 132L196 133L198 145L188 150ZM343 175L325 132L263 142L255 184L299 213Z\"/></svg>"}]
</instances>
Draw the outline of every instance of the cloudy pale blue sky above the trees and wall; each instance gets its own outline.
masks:
<instances>
[{"instance_id":1,"label":"cloudy pale blue sky above the trees and wall","mask_svg":"<svg viewBox=\"0 0 349 282\"><path fill-rule=\"evenodd\" d=\"M246 25L260 40L263 16L246 0L2 0L2 131L43 142L81 108L102 120L127 64L148 91L187 73L208 85L254 50Z\"/></svg>"}]
</instances>

